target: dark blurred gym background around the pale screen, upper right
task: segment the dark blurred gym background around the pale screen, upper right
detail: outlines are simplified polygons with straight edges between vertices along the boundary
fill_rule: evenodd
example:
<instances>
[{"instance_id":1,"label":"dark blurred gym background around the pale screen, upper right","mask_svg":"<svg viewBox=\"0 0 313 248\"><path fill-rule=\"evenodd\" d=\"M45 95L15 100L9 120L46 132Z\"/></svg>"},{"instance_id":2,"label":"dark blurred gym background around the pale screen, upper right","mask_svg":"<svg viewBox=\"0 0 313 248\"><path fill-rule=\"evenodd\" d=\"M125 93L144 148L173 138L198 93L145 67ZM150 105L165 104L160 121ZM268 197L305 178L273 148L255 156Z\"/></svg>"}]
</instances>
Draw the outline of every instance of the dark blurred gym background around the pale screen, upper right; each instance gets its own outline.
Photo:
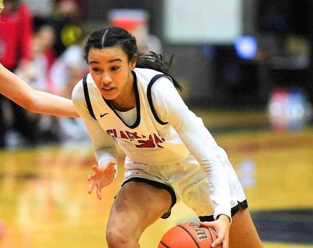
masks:
<instances>
[{"instance_id":1,"label":"dark blurred gym background around the pale screen, upper right","mask_svg":"<svg viewBox=\"0 0 313 248\"><path fill-rule=\"evenodd\" d=\"M160 38L167 54L175 54L174 74L187 86L189 104L264 107L277 87L300 87L313 100L313 2L310 0L243 0L243 35L255 37L263 54L252 60L238 58L232 45L166 44L162 29L163 0L86 0L85 24L107 23L112 8L149 11L150 32ZM309 44L306 65L293 65L296 56L286 49L290 36Z\"/></svg>"}]
</instances>

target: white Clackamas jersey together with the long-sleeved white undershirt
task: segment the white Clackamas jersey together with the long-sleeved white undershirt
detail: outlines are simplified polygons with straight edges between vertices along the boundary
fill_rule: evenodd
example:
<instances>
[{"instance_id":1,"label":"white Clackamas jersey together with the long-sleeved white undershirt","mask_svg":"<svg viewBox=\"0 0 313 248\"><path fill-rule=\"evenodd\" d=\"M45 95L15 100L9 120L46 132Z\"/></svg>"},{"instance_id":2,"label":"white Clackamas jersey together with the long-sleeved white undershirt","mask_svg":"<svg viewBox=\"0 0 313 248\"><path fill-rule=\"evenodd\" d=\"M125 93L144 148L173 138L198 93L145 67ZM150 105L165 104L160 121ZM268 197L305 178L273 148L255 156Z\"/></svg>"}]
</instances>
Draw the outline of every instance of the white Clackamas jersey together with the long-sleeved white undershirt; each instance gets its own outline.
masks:
<instances>
[{"instance_id":1,"label":"white Clackamas jersey together with the long-sleeved white undershirt","mask_svg":"<svg viewBox=\"0 0 313 248\"><path fill-rule=\"evenodd\" d=\"M188 109L166 75L141 68L132 73L137 111L132 125L102 97L90 74L73 90L72 100L86 124L98 165L117 162L112 137L125 152L126 164L177 165L192 154L208 177L214 216L231 216L230 188L236 189L232 190L235 201L243 200L244 194L224 149L201 118Z\"/></svg>"}]
</instances>

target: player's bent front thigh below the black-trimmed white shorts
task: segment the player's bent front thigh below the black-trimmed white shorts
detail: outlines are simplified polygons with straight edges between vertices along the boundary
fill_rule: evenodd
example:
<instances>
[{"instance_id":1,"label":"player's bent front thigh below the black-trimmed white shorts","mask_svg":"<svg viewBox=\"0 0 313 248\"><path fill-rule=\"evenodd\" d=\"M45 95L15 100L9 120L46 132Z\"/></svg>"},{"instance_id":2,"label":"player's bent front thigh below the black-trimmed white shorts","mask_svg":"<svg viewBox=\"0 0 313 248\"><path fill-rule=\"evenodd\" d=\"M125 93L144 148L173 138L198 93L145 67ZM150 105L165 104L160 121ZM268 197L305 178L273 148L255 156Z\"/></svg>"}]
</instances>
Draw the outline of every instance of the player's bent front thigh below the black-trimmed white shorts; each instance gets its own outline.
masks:
<instances>
[{"instance_id":1,"label":"player's bent front thigh below the black-trimmed white shorts","mask_svg":"<svg viewBox=\"0 0 313 248\"><path fill-rule=\"evenodd\" d=\"M147 183L128 182L122 186L115 198L108 228L119 227L130 235L140 237L171 204L172 198L168 191Z\"/></svg>"}]
</instances>

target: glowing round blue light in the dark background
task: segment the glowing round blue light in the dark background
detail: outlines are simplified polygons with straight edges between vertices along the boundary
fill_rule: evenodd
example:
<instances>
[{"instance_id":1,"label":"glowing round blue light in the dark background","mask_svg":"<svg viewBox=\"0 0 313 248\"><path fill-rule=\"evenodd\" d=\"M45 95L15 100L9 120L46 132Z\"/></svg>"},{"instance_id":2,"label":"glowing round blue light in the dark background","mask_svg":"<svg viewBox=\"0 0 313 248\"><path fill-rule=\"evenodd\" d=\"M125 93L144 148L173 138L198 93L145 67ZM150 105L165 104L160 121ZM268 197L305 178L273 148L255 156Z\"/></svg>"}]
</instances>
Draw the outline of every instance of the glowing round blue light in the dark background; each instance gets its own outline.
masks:
<instances>
[{"instance_id":1,"label":"glowing round blue light in the dark background","mask_svg":"<svg viewBox=\"0 0 313 248\"><path fill-rule=\"evenodd\" d=\"M234 46L238 57L243 59L254 58L257 50L257 40L252 36L241 36L235 39Z\"/></svg>"}]
</instances>

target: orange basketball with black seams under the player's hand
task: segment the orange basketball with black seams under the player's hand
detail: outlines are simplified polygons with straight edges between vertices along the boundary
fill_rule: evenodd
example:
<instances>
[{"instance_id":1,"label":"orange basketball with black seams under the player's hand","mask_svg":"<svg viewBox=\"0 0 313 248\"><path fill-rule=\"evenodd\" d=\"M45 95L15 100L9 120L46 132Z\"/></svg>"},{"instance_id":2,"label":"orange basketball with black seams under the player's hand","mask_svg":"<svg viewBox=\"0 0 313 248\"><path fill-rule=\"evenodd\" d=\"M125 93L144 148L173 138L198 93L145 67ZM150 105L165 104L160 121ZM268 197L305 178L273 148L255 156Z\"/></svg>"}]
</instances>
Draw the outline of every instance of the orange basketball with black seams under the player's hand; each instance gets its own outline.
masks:
<instances>
[{"instance_id":1,"label":"orange basketball with black seams under the player's hand","mask_svg":"<svg viewBox=\"0 0 313 248\"><path fill-rule=\"evenodd\" d=\"M216 239L217 233L214 229L187 222L168 230L157 248L210 248Z\"/></svg>"}]
</instances>

